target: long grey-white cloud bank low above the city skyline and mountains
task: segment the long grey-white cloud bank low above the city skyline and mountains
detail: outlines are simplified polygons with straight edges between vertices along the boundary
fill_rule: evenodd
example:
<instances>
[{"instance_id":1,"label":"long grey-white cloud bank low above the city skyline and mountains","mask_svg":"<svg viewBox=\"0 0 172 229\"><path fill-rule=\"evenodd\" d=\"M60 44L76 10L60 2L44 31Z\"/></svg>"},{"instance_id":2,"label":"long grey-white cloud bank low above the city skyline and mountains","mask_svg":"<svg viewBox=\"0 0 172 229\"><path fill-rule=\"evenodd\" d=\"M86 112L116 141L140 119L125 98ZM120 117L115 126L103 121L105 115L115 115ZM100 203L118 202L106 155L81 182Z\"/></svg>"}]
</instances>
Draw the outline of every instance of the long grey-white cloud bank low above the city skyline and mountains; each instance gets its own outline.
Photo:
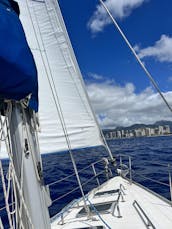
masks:
<instances>
[{"instance_id":1,"label":"long grey-white cloud bank low above the city skyline and mountains","mask_svg":"<svg viewBox=\"0 0 172 229\"><path fill-rule=\"evenodd\" d=\"M121 87L105 82L88 84L87 90L103 128L171 120L171 113L162 99L149 87L136 94L132 83ZM164 93L164 96L172 104L172 91Z\"/></svg>"}]
</instances>

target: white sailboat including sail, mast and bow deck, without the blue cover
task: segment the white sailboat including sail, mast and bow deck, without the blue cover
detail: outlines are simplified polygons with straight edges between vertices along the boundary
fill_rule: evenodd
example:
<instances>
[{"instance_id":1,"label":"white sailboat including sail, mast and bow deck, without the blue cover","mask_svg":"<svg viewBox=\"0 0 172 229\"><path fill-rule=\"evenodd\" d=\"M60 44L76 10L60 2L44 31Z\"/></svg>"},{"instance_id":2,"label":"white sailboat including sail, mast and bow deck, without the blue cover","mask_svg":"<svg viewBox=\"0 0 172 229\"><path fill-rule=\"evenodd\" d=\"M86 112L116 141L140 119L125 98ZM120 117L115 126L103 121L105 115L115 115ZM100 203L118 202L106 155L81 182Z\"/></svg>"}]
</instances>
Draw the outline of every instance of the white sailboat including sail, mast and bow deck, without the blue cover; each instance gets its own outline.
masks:
<instances>
[{"instance_id":1,"label":"white sailboat including sail, mast and bow deck, without the blue cover","mask_svg":"<svg viewBox=\"0 0 172 229\"><path fill-rule=\"evenodd\" d=\"M130 157L128 171L121 155L119 176L109 179L108 166L115 165L115 160L92 111L58 2L17 2L38 69L41 131L37 137L39 126L34 112L18 102L7 101L2 132L4 137L8 136L5 138L10 157L7 184L2 164L0 167L10 228L170 229L171 202L132 180ZM41 152L70 153L82 194L81 199L74 200L52 219L48 214L51 199L43 183L39 145ZM93 169L98 187L85 195L72 150L99 145L108 152L108 158L103 159L108 181L100 185L96 163L87 167ZM170 170L169 188L172 194ZM2 222L0 227L3 228Z\"/></svg>"}]
</instances>

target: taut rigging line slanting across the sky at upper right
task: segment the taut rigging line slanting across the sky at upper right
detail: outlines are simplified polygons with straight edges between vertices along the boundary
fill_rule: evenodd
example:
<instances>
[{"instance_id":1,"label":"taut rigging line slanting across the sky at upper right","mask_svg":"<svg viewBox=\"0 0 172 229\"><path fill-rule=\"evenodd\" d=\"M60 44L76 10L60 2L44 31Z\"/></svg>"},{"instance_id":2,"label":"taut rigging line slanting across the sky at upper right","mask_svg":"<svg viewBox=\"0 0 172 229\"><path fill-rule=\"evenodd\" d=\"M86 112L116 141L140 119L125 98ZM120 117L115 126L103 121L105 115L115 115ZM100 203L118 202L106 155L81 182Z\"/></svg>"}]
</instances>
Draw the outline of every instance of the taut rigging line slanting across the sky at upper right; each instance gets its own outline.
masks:
<instances>
[{"instance_id":1,"label":"taut rigging line slanting across the sky at upper right","mask_svg":"<svg viewBox=\"0 0 172 229\"><path fill-rule=\"evenodd\" d=\"M131 52L133 53L133 55L135 56L136 60L138 61L138 63L140 64L140 66L142 67L142 69L144 70L144 72L146 73L146 75L148 76L149 80L152 82L153 86L155 87L155 89L157 90L157 92L159 93L159 95L161 96L161 98L163 99L163 101L165 102L166 106L168 107L168 109L172 112L172 107L169 105L168 101L166 100L166 98L164 97L163 93L160 91L157 83L155 82L155 80L153 79L153 77L151 76L151 73L147 70L147 68L144 66L143 62L141 61L141 59L139 58L139 56L137 55L136 51L134 50L134 48L132 47L132 45L130 44L129 40L127 39L127 37L125 36L125 34L123 33L123 31L121 30L121 28L119 27L118 23L116 22L116 20L114 19L114 17L112 16L111 12L109 11L109 9L107 8L107 6L105 5L105 3L103 2L103 0L99 0L100 3L102 4L102 6L104 7L104 9L106 10L106 12L108 13L109 17L111 18L113 24L115 25L115 27L117 28L117 30L119 31L119 33L121 34L121 36L123 37L124 41L126 42L126 44L128 45L129 49L131 50Z\"/></svg>"}]
</instances>

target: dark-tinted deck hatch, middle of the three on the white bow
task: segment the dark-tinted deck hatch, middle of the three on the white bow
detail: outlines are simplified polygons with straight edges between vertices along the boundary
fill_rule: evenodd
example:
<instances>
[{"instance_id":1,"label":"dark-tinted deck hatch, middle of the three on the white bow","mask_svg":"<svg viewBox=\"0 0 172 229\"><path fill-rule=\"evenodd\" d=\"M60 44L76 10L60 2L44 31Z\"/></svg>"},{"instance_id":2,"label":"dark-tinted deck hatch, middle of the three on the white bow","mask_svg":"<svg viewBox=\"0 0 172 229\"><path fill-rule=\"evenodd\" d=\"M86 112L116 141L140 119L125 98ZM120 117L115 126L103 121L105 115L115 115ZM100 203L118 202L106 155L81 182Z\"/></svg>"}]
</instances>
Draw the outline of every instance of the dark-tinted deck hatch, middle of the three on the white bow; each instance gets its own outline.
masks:
<instances>
[{"instance_id":1,"label":"dark-tinted deck hatch, middle of the three on the white bow","mask_svg":"<svg viewBox=\"0 0 172 229\"><path fill-rule=\"evenodd\" d=\"M94 207L95 207L95 209L98 211L98 212L103 212L103 213L106 213L107 211L109 212L110 211L110 209L111 209L111 206L112 206L112 202L111 203L102 203L102 204L94 204ZM90 213L91 214L96 214L95 213L95 210L92 208L92 207L90 207L90 206L88 206L89 207L89 209L90 209ZM85 210L85 208L83 207L80 211L79 211L79 213L77 214L77 217L83 217L83 216L86 216L87 215L87 212L86 212L86 210Z\"/></svg>"}]
</instances>

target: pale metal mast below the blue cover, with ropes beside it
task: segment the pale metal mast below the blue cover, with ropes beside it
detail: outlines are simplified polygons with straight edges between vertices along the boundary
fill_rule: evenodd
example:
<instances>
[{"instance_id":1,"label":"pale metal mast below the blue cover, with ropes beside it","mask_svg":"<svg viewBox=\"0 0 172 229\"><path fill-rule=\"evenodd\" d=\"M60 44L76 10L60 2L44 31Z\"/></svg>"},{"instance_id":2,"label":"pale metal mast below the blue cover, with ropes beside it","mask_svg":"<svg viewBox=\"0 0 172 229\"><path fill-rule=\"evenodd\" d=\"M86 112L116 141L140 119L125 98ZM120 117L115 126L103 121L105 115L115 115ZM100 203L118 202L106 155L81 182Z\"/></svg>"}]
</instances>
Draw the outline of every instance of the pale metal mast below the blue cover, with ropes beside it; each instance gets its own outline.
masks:
<instances>
[{"instance_id":1,"label":"pale metal mast below the blue cover, with ropes beside it","mask_svg":"<svg viewBox=\"0 0 172 229\"><path fill-rule=\"evenodd\" d=\"M12 105L9 120L12 164L20 185L20 190L15 190L16 227L48 229L50 201L47 200L50 198L42 177L34 115L32 110L24 109L21 104Z\"/></svg>"}]
</instances>

